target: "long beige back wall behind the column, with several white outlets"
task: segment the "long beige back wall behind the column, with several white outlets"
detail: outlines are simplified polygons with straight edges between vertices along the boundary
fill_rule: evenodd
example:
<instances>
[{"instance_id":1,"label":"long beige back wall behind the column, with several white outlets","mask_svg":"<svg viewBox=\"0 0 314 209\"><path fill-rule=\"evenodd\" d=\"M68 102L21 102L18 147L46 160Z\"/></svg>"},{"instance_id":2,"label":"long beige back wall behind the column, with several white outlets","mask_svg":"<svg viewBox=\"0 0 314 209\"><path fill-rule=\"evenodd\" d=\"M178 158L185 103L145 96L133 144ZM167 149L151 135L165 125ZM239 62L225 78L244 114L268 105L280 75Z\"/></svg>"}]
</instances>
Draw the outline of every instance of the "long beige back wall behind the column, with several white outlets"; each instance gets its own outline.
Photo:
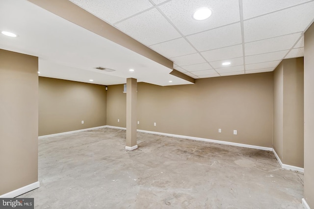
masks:
<instances>
[{"instance_id":1,"label":"long beige back wall behind the column, with several white outlets","mask_svg":"<svg viewBox=\"0 0 314 209\"><path fill-rule=\"evenodd\" d=\"M108 87L107 125L125 127L122 89ZM182 86L138 83L137 89L138 129L272 147L272 72L197 79Z\"/></svg>"}]
</instances>

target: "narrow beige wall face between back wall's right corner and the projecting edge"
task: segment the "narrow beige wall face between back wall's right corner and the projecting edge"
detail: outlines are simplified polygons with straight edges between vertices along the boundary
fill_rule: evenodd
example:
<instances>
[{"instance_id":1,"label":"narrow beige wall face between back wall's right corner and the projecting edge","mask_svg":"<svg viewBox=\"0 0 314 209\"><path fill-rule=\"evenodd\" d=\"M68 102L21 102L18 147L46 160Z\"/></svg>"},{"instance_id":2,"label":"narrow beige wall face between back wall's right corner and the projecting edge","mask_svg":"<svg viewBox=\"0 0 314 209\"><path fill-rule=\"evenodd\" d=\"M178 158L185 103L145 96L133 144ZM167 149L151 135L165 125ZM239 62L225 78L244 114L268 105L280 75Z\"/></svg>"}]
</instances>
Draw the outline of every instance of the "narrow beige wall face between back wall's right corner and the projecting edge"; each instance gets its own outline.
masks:
<instances>
[{"instance_id":1,"label":"narrow beige wall face between back wall's right corner and the projecting edge","mask_svg":"<svg viewBox=\"0 0 314 209\"><path fill-rule=\"evenodd\" d=\"M284 139L284 65L280 63L274 70L274 135L273 148L283 159Z\"/></svg>"}]
</instances>

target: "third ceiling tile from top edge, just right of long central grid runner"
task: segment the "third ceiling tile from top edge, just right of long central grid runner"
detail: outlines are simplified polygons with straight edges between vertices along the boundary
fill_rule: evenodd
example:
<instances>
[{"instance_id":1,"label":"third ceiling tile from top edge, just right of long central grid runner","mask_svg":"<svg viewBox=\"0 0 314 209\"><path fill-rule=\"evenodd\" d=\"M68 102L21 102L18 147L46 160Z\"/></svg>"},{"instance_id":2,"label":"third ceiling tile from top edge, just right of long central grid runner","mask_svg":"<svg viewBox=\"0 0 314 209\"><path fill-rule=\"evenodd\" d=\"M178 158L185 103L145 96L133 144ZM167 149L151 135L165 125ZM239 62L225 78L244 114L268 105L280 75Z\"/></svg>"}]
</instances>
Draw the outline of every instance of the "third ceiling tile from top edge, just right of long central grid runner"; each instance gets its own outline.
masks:
<instances>
[{"instance_id":1,"label":"third ceiling tile from top edge, just right of long central grid runner","mask_svg":"<svg viewBox=\"0 0 314 209\"><path fill-rule=\"evenodd\" d=\"M265 39L256 42L245 44L245 55L262 54L274 51L281 51L290 49L293 44L298 40L301 33L280 36L271 39Z\"/></svg>"}]
</instances>

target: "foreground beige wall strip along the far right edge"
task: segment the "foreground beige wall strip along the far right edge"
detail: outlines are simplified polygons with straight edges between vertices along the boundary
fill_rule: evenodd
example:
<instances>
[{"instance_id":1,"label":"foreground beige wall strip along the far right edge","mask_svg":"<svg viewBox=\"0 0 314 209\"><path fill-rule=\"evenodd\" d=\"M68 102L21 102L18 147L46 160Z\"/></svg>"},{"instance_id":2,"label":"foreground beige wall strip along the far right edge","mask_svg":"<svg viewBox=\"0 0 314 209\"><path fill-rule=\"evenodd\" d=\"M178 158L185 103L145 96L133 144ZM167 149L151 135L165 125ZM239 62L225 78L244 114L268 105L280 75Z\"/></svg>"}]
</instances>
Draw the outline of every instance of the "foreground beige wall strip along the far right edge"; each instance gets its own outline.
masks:
<instances>
[{"instance_id":1,"label":"foreground beige wall strip along the far right edge","mask_svg":"<svg viewBox=\"0 0 314 209\"><path fill-rule=\"evenodd\" d=\"M314 209L314 24L304 35L304 199Z\"/></svg>"}]
</instances>

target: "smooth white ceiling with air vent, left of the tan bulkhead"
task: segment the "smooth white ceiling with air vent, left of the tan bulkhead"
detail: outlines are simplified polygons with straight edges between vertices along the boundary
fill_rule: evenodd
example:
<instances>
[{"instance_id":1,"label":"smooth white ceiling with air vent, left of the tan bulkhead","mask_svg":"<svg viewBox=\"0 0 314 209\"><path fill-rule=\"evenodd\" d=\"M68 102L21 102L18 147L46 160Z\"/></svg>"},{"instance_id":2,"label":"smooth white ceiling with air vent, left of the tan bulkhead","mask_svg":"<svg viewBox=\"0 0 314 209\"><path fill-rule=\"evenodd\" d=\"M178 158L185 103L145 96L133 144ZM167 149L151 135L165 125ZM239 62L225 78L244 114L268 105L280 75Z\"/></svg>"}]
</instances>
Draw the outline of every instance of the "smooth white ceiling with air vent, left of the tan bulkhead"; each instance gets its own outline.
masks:
<instances>
[{"instance_id":1,"label":"smooth white ceiling with air vent, left of the tan bulkhead","mask_svg":"<svg viewBox=\"0 0 314 209\"><path fill-rule=\"evenodd\" d=\"M160 86L192 84L170 74L169 60L171 68L27 0L0 0L0 31L18 34L16 38L0 34L1 49L39 57L39 76L101 85L123 84L130 77ZM115 71L95 69L99 66Z\"/></svg>"}]
</instances>

